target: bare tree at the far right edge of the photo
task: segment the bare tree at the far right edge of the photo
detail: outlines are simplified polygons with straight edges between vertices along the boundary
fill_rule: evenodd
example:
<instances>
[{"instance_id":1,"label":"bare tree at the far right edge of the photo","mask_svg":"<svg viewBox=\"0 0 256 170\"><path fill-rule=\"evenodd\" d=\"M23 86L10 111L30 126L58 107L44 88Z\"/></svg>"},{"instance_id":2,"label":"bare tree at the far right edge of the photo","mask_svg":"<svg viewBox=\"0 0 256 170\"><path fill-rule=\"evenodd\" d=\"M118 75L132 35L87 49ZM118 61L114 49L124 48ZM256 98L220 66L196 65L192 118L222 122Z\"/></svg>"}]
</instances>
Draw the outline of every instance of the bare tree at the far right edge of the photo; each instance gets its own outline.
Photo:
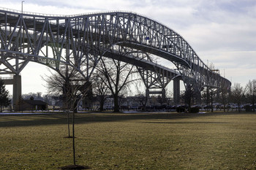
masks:
<instances>
[{"instance_id":1,"label":"bare tree at the far right edge of the photo","mask_svg":"<svg viewBox=\"0 0 256 170\"><path fill-rule=\"evenodd\" d=\"M245 95L252 104L252 110L255 112L255 101L256 101L256 80L249 80L246 84Z\"/></svg>"}]
</instances>

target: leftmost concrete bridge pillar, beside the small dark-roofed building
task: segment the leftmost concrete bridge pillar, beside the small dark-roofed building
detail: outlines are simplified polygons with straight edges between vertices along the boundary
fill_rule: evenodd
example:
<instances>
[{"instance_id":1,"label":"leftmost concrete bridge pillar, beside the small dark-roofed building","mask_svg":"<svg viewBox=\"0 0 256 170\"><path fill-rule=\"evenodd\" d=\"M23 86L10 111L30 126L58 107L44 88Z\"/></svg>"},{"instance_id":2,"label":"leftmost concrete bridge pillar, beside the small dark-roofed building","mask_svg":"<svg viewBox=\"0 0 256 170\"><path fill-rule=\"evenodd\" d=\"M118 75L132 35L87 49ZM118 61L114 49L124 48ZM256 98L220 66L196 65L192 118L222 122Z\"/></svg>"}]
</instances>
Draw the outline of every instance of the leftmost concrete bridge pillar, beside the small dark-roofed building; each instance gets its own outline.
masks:
<instances>
[{"instance_id":1,"label":"leftmost concrete bridge pillar, beside the small dark-roofed building","mask_svg":"<svg viewBox=\"0 0 256 170\"><path fill-rule=\"evenodd\" d=\"M12 92L12 107L15 109L18 106L19 97L21 96L21 76L13 76L13 92Z\"/></svg>"}]
</instances>

